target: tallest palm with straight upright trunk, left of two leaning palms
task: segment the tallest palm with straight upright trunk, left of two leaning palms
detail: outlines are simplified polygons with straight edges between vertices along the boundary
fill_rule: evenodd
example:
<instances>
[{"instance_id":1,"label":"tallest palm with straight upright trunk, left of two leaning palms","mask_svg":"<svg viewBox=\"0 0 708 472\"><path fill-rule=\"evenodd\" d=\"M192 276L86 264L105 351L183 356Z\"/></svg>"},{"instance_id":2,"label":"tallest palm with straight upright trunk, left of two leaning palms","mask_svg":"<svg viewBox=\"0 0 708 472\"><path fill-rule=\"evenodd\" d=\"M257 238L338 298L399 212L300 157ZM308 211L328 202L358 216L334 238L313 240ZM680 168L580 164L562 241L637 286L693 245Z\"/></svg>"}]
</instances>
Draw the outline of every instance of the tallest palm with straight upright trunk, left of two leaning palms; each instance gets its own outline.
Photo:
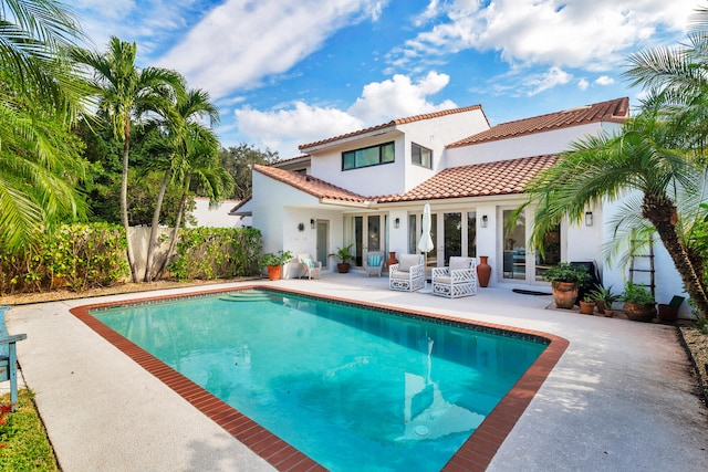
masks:
<instances>
[{"instance_id":1,"label":"tallest palm with straight upright trunk, left of two leaning palms","mask_svg":"<svg viewBox=\"0 0 708 472\"><path fill-rule=\"evenodd\" d=\"M87 65L92 70L93 77L88 81L92 92L98 97L100 109L110 117L115 138L123 141L121 219L126 235L129 234L127 183L131 132L133 120L140 119L136 111L154 101L159 95L156 94L156 91L181 86L181 77L175 71L159 67L138 69L135 63L136 53L135 43L121 41L115 36L111 38L108 50L104 54L85 49L71 51L71 55L76 62ZM137 282L135 255L131 244L127 245L127 255L133 282Z\"/></svg>"}]
</instances>

